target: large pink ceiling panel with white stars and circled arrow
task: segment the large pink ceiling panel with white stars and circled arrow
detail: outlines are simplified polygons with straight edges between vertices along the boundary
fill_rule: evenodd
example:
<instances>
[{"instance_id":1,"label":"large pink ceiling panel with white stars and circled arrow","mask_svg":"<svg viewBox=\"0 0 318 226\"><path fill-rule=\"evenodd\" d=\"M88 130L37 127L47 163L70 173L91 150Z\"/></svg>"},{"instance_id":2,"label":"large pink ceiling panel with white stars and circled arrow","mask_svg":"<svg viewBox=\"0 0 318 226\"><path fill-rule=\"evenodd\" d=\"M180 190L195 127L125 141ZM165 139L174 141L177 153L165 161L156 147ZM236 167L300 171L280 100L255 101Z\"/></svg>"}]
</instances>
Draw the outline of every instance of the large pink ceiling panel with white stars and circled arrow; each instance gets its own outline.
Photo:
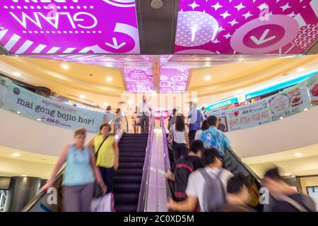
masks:
<instances>
[{"instance_id":1,"label":"large pink ceiling panel with white stars and circled arrow","mask_svg":"<svg viewBox=\"0 0 318 226\"><path fill-rule=\"evenodd\" d=\"M175 53L301 54L317 16L317 0L180 0Z\"/></svg>"}]
</instances>

